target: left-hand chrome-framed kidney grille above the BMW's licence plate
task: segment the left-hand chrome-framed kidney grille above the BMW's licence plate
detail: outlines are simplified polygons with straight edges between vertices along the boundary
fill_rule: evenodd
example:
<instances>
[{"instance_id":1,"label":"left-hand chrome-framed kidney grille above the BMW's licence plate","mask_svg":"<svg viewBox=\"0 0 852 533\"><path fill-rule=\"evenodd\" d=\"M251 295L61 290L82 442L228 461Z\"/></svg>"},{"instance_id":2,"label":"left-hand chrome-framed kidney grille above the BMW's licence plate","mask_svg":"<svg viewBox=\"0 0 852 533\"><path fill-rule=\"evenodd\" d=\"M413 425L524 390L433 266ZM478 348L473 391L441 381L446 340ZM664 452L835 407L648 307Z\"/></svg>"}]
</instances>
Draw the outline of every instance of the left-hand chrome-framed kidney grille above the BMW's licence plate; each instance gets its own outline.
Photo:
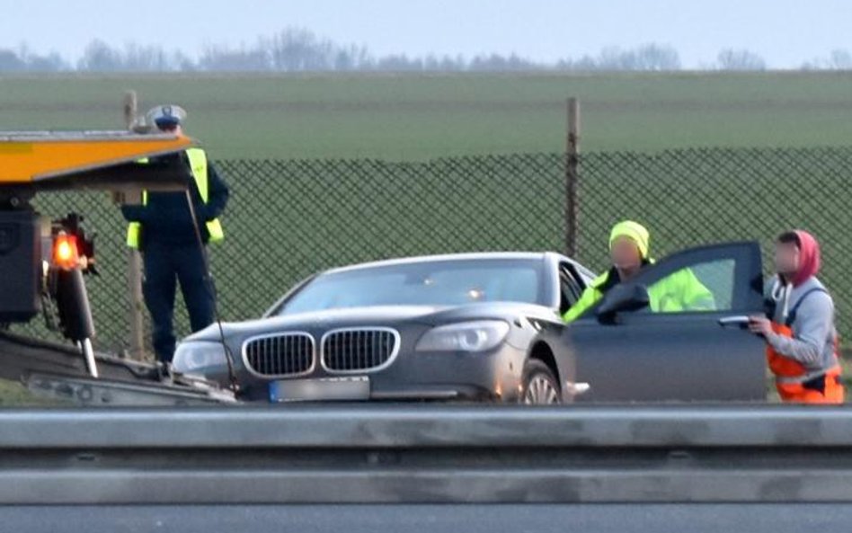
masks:
<instances>
[{"instance_id":1,"label":"left-hand chrome-framed kidney grille above the BMW's licence plate","mask_svg":"<svg viewBox=\"0 0 852 533\"><path fill-rule=\"evenodd\" d=\"M248 339L243 360L254 374L284 378L314 368L314 337L308 333L274 333Z\"/></svg>"}]
</instances>

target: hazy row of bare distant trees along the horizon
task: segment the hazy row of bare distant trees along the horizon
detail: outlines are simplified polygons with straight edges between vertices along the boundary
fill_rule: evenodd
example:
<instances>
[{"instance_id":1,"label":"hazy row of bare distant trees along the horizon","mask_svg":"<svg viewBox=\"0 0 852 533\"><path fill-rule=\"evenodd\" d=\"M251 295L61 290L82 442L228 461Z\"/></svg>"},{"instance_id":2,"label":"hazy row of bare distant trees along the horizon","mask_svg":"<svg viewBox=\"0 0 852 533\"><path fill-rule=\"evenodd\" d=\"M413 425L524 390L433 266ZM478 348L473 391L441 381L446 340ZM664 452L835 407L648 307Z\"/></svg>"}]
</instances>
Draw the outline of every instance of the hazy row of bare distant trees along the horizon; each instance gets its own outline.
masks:
<instances>
[{"instance_id":1,"label":"hazy row of bare distant trees along the horizon","mask_svg":"<svg viewBox=\"0 0 852 533\"><path fill-rule=\"evenodd\" d=\"M26 46L0 48L0 72L505 72L505 71L675 71L683 67L678 51L668 45L643 44L633 49L606 48L597 55L542 63L516 54L411 57L376 56L362 45L340 45L314 32L288 28L253 45L209 46L198 58L159 45L127 44L118 48L91 41L75 63L52 52L42 56ZM757 71L766 61L747 49L723 49L703 70ZM852 69L852 55L837 49L814 58L804 70Z\"/></svg>"}]
</instances>

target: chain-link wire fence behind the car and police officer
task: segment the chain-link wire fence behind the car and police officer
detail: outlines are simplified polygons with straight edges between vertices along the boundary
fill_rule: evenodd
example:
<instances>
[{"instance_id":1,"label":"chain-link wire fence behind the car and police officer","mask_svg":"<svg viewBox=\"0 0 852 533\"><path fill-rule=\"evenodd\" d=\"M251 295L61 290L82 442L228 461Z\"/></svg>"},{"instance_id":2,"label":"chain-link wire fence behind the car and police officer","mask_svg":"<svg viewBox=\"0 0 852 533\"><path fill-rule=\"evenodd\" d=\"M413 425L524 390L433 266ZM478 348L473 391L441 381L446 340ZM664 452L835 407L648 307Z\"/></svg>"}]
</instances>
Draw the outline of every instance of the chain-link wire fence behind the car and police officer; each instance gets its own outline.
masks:
<instances>
[{"instance_id":1,"label":"chain-link wire fence behind the car and police officer","mask_svg":"<svg viewBox=\"0 0 852 533\"><path fill-rule=\"evenodd\" d=\"M217 169L232 189L226 240L210 247L225 320L261 315L312 272L426 253L554 250L565 243L565 157L485 155L426 163L233 160ZM782 230L803 227L823 244L822 279L852 334L848 236L850 148L671 150L581 156L578 259L605 268L609 227L634 218L652 251L758 239L768 253ZM84 213L98 234L102 276L89 280L98 343L128 339L127 252L119 209L103 194L42 194L43 214ZM768 256L767 256L768 259ZM768 262L767 262L768 264ZM177 302L177 330L188 321ZM44 333L39 324L27 326Z\"/></svg>"}]
</instances>

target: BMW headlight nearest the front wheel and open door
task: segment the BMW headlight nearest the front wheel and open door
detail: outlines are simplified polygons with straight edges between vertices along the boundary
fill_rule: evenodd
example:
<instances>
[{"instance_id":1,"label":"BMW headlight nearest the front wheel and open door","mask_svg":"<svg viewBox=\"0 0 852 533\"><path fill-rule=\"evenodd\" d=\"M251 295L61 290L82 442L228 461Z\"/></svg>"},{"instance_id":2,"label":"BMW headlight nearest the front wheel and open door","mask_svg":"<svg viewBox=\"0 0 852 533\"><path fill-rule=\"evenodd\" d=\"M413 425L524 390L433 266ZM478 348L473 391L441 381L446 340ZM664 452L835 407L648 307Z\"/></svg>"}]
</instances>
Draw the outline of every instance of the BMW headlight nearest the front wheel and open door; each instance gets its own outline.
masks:
<instances>
[{"instance_id":1,"label":"BMW headlight nearest the front wheel and open door","mask_svg":"<svg viewBox=\"0 0 852 533\"><path fill-rule=\"evenodd\" d=\"M415 351L486 351L497 347L509 334L501 320L480 320L441 325L423 334Z\"/></svg>"}]
</instances>

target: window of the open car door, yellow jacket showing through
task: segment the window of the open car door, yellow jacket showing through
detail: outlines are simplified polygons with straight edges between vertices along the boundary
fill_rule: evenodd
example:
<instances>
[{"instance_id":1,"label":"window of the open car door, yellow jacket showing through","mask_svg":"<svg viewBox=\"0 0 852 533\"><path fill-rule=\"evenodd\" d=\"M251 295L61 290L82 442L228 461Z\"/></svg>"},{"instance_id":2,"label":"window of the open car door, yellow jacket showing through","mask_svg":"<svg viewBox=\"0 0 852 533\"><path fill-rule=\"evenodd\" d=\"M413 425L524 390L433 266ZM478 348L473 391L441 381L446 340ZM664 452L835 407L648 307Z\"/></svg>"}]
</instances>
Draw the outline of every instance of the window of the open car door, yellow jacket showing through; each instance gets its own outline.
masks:
<instances>
[{"instance_id":1,"label":"window of the open car door, yellow jacket showing through","mask_svg":"<svg viewBox=\"0 0 852 533\"><path fill-rule=\"evenodd\" d=\"M699 262L647 286L652 313L700 313L732 309L736 262Z\"/></svg>"}]
</instances>

